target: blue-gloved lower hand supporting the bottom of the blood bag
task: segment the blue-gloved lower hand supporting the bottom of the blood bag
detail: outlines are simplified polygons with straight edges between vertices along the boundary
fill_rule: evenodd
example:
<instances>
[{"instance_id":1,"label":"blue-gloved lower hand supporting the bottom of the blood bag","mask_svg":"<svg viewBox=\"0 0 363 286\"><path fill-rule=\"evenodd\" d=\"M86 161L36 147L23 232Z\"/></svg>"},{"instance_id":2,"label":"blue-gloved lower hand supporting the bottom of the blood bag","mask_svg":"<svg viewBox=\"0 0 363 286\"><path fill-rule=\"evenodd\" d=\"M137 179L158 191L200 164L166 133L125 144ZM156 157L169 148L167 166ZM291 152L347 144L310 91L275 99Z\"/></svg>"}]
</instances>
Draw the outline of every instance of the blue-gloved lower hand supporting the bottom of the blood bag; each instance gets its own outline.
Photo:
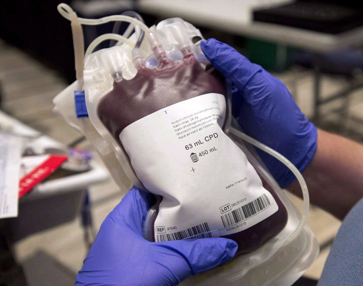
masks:
<instances>
[{"instance_id":1,"label":"blue-gloved lower hand supporting the bottom of the blood bag","mask_svg":"<svg viewBox=\"0 0 363 286\"><path fill-rule=\"evenodd\" d=\"M149 242L142 236L152 195L132 188L109 213L91 246L76 285L177 285L235 254L224 238Z\"/></svg>"}]
</instances>

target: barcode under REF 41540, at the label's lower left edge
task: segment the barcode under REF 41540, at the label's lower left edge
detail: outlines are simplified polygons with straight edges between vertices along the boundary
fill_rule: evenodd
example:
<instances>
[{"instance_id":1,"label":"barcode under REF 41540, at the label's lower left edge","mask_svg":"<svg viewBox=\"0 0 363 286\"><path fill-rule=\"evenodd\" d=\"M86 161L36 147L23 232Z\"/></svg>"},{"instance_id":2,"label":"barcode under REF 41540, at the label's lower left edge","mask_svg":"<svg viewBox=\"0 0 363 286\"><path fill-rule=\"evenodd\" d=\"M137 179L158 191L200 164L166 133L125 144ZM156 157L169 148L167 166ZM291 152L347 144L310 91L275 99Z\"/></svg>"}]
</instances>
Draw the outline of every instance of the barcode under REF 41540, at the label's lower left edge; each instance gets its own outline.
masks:
<instances>
[{"instance_id":1,"label":"barcode under REF 41540, at the label's lower left edge","mask_svg":"<svg viewBox=\"0 0 363 286\"><path fill-rule=\"evenodd\" d=\"M175 232L175 233L169 233L169 234L158 234L156 236L156 241L170 241L170 240L181 240L181 239L187 239L187 238L206 238L206 237L212 237L208 224L203 223L198 226Z\"/></svg>"}]
</instances>

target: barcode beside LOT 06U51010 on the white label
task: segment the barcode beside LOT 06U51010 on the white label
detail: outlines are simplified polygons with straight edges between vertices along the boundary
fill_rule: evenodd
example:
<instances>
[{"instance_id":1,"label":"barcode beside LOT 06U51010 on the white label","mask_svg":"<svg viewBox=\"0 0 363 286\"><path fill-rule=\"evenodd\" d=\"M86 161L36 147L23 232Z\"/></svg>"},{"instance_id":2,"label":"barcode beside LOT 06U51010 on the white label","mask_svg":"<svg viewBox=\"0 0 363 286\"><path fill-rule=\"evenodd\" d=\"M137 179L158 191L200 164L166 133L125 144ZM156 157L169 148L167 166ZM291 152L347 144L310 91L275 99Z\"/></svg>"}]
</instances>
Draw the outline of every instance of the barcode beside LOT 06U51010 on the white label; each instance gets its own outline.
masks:
<instances>
[{"instance_id":1,"label":"barcode beside LOT 06U51010 on the white label","mask_svg":"<svg viewBox=\"0 0 363 286\"><path fill-rule=\"evenodd\" d=\"M244 221L252 217L253 215L256 215L256 213L265 209L270 204L271 202L267 195L263 194L257 199L221 216L223 226L226 228L233 226L241 221Z\"/></svg>"}]
</instances>

